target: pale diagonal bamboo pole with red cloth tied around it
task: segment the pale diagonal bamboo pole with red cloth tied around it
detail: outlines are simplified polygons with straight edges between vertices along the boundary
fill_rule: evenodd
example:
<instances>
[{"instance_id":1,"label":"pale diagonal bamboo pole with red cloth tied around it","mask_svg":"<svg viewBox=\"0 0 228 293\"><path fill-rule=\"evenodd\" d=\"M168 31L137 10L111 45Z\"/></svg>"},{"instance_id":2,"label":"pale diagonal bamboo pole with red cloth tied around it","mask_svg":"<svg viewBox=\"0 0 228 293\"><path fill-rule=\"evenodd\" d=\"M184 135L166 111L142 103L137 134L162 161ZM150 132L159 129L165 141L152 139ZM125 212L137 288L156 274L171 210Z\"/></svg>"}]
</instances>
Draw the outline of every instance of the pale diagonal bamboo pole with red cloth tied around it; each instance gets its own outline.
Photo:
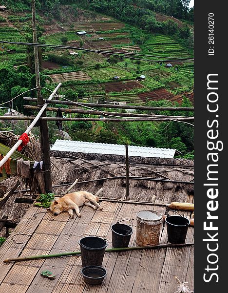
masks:
<instances>
[{"instance_id":1,"label":"pale diagonal bamboo pole with red cloth tied around it","mask_svg":"<svg viewBox=\"0 0 228 293\"><path fill-rule=\"evenodd\" d=\"M54 95L56 94L58 88L61 86L61 83L59 83L57 85L57 87L54 89L53 93L50 95L50 97L48 98L47 101L51 100ZM30 124L30 126L28 126L28 128L25 130L25 133L28 134L32 128L35 126L35 124L38 122L38 120L40 119L40 116L42 115L43 111L45 110L45 108L47 107L48 105L48 102L45 102L45 104L42 106L42 108L39 110L37 116L35 117L32 117L31 120L33 120L33 122ZM1 116L1 117L6 117L6 116ZM8 118L13 118L12 117L8 117ZM24 118L24 117L22 117ZM43 118L47 118L47 117L43 117ZM58 119L58 118L57 118ZM5 164L5 162L12 156L12 154L15 152L15 150L19 147L19 145L22 143L22 140L19 139L19 141L10 149L10 151L4 156L4 158L0 161L0 167L3 166Z\"/></svg>"}]
</instances>

